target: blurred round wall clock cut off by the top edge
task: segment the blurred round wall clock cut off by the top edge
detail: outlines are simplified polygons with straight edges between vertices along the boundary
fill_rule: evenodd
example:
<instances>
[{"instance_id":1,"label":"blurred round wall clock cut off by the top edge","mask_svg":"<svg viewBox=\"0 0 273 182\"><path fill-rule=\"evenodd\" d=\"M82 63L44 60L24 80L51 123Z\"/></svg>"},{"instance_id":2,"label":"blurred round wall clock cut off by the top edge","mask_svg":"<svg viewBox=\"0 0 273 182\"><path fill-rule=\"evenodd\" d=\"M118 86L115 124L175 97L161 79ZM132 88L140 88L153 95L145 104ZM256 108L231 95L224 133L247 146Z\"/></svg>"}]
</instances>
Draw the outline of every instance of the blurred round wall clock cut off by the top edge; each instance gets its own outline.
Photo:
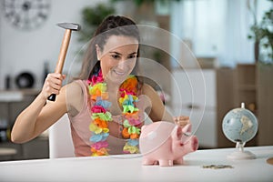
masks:
<instances>
[{"instance_id":1,"label":"blurred round wall clock cut off by the top edge","mask_svg":"<svg viewBox=\"0 0 273 182\"><path fill-rule=\"evenodd\" d=\"M35 29L47 19L50 0L3 0L7 21L19 29Z\"/></svg>"}]
</instances>

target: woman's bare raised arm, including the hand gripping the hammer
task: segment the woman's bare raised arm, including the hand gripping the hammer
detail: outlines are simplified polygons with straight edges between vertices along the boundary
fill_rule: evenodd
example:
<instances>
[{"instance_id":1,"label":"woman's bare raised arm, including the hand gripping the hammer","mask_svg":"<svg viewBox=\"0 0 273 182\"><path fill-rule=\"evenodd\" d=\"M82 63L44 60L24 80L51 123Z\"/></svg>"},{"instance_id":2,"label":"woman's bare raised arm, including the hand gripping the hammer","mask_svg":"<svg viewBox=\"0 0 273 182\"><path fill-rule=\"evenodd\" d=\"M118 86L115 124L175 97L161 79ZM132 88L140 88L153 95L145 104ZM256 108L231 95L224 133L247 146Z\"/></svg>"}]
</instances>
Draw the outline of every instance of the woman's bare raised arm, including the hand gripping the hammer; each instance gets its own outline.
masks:
<instances>
[{"instance_id":1,"label":"woman's bare raised arm, including the hand gripping the hammer","mask_svg":"<svg viewBox=\"0 0 273 182\"><path fill-rule=\"evenodd\" d=\"M66 112L66 86L62 87L65 76L49 74L42 91L15 120L11 140L15 143L27 142L53 125ZM47 97L56 94L55 102L47 102Z\"/></svg>"}]
</instances>

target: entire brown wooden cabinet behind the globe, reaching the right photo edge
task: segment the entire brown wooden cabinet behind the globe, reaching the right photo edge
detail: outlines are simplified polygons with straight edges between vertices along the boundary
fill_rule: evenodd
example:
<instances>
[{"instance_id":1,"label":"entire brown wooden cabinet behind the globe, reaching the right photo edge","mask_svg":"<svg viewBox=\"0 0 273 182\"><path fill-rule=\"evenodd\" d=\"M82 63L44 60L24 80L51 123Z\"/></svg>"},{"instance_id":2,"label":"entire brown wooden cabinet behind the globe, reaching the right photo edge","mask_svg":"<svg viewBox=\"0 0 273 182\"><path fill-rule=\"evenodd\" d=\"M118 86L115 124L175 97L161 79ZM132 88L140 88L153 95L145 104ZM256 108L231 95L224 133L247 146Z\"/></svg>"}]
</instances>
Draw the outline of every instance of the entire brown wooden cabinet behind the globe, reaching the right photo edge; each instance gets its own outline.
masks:
<instances>
[{"instance_id":1,"label":"entire brown wooden cabinet behind the globe, reaching the right photo edge","mask_svg":"<svg viewBox=\"0 0 273 182\"><path fill-rule=\"evenodd\" d=\"M235 147L222 132L222 120L241 102L258 118L258 134L246 146L273 145L272 93L273 66L241 64L217 69L217 146Z\"/></svg>"}]
</instances>

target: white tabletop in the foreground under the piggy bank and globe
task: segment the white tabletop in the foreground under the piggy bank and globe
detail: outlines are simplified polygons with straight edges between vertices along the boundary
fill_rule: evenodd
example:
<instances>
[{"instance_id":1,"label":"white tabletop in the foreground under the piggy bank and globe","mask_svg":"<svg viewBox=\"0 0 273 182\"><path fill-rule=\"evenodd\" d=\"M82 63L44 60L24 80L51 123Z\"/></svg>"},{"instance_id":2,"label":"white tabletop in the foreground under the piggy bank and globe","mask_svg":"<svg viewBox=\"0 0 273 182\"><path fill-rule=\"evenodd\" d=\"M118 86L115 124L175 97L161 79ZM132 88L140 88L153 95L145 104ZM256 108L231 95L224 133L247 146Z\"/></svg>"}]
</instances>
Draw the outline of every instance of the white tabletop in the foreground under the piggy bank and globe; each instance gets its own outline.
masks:
<instances>
[{"instance_id":1,"label":"white tabletop in the foreground under the piggy bank and globe","mask_svg":"<svg viewBox=\"0 0 273 182\"><path fill-rule=\"evenodd\" d=\"M232 161L234 148L198 150L174 167L142 166L141 157L74 157L0 162L0 181L273 181L272 147L247 147L257 158ZM211 169L204 165L231 165Z\"/></svg>"}]
</instances>

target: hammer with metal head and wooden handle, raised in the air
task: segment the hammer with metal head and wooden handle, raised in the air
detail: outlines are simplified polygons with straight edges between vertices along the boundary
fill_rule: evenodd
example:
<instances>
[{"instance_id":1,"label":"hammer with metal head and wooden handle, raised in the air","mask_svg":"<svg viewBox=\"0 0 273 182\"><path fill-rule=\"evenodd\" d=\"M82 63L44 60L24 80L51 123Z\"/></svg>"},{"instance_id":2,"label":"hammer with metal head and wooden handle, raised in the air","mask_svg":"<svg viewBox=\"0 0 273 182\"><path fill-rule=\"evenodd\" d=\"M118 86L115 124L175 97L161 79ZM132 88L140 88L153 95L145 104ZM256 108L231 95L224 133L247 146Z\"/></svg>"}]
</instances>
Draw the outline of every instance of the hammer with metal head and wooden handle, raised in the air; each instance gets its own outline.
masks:
<instances>
[{"instance_id":1,"label":"hammer with metal head and wooden handle, raised in the air","mask_svg":"<svg viewBox=\"0 0 273 182\"><path fill-rule=\"evenodd\" d=\"M63 38L63 42L61 45L61 50L60 50L60 54L58 57L58 61L56 64L56 69L55 69L55 73L59 73L62 74L63 71L63 67L65 64L65 59L66 59L66 52L67 52L67 48L70 42L70 37L71 37L71 32L72 30L78 31L81 29L80 25L74 24L74 23L60 23L57 24L58 26L65 28L66 32ZM56 94L52 94L50 96L48 96L47 98L50 101L55 101L56 100Z\"/></svg>"}]
</instances>

